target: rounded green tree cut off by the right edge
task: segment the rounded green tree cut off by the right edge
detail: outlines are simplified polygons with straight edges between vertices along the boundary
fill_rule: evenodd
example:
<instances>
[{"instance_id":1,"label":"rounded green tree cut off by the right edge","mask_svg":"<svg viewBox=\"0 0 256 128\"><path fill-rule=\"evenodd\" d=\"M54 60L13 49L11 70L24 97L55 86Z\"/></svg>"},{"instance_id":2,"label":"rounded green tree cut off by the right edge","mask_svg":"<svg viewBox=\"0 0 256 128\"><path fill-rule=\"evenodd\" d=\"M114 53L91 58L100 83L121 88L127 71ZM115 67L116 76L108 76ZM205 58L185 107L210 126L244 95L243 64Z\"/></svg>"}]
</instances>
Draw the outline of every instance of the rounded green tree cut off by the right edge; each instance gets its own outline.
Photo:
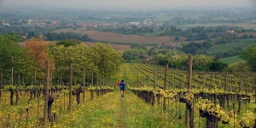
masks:
<instances>
[{"instance_id":1,"label":"rounded green tree cut off by the right edge","mask_svg":"<svg viewBox=\"0 0 256 128\"><path fill-rule=\"evenodd\" d=\"M239 55L239 58L247 61L249 67L251 67L253 71L256 71L256 45L249 46L247 49L244 49L241 52L241 55Z\"/></svg>"}]
</instances>

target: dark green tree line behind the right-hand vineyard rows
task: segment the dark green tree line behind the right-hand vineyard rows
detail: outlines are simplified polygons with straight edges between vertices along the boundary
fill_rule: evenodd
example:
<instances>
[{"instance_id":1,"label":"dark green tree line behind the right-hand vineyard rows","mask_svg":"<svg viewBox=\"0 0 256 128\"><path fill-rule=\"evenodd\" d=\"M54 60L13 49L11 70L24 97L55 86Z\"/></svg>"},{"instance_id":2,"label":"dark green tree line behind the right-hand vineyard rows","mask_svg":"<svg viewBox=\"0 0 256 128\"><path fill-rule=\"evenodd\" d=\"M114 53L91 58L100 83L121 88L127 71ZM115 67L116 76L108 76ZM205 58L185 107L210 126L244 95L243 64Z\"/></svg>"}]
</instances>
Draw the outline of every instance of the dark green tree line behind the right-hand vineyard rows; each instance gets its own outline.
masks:
<instances>
[{"instance_id":1,"label":"dark green tree line behind the right-hand vineyard rows","mask_svg":"<svg viewBox=\"0 0 256 128\"><path fill-rule=\"evenodd\" d=\"M206 47L203 44L189 44L188 47ZM241 71L255 71L256 66L253 62L255 60L256 46L249 46L247 49L230 49L229 54L237 54L244 60L228 66L228 64L219 61L219 56L212 55L194 55L194 70L201 71L223 71L229 70L234 72ZM220 53L221 54L221 53ZM224 53L223 53L224 54ZM228 53L226 53L228 54ZM188 55L182 50L168 49L166 47L155 46L148 49L145 44L131 45L131 49L127 49L123 53L123 58L127 62L144 62L165 66L166 62L169 67L186 69L188 64ZM238 55L238 54L237 54ZM242 67L241 67L242 66Z\"/></svg>"}]
</instances>

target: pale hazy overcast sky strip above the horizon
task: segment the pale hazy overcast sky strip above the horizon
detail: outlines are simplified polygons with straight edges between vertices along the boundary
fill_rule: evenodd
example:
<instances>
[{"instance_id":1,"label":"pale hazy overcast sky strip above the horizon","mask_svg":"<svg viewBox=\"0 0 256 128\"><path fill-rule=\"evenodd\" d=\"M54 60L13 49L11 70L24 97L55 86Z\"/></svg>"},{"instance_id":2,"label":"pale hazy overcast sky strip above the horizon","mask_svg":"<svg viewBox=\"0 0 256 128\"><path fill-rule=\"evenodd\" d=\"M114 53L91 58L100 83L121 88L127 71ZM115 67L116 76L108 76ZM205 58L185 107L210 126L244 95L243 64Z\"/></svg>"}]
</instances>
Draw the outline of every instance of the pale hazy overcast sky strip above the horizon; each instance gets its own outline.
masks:
<instances>
[{"instance_id":1,"label":"pale hazy overcast sky strip above the horizon","mask_svg":"<svg viewBox=\"0 0 256 128\"><path fill-rule=\"evenodd\" d=\"M256 0L0 0L0 5L38 5L85 8L179 8L179 7L245 7Z\"/></svg>"}]
</instances>

